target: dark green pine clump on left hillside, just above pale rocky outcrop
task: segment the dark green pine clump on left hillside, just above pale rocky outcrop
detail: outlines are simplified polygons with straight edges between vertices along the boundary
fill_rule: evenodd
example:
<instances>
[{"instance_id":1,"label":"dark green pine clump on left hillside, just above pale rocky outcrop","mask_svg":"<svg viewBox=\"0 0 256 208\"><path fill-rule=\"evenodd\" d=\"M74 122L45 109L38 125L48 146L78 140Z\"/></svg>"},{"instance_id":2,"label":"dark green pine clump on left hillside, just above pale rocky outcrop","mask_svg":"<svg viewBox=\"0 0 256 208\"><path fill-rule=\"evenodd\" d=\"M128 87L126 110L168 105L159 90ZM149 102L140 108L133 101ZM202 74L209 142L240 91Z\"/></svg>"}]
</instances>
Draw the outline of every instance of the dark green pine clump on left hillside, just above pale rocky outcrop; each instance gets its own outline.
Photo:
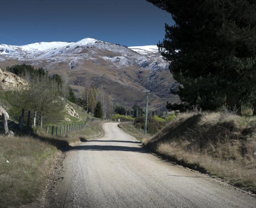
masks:
<instances>
[{"instance_id":1,"label":"dark green pine clump on left hillside, just above pale rocky outcrop","mask_svg":"<svg viewBox=\"0 0 256 208\"><path fill-rule=\"evenodd\" d=\"M6 67L6 70L27 79L48 74L43 68L35 69L33 66L27 64L13 65Z\"/></svg>"}]
</instances>

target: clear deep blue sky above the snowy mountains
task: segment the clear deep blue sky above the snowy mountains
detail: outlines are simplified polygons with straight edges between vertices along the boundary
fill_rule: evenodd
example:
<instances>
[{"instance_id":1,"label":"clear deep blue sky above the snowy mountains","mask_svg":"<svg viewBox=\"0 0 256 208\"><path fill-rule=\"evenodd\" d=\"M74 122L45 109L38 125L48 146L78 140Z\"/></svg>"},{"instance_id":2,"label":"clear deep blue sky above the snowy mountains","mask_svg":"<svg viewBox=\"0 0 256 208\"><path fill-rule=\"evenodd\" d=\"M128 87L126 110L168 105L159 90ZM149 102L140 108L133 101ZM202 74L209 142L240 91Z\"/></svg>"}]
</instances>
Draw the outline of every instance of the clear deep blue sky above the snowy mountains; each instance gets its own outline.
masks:
<instances>
[{"instance_id":1,"label":"clear deep blue sky above the snowy mountains","mask_svg":"<svg viewBox=\"0 0 256 208\"><path fill-rule=\"evenodd\" d=\"M171 15L146 0L2 0L0 43L76 42L155 45Z\"/></svg>"}]
</instances>

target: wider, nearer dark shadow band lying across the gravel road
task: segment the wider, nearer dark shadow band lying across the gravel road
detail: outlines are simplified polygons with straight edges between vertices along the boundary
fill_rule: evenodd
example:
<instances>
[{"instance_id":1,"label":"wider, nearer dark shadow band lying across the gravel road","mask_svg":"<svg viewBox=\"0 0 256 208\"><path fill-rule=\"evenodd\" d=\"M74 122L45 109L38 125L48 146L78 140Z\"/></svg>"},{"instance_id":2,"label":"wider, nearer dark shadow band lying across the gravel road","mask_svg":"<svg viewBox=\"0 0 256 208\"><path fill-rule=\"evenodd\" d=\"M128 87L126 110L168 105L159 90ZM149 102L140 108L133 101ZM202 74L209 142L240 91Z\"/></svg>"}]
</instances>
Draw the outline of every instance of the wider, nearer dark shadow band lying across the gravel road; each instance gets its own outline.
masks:
<instances>
[{"instance_id":1,"label":"wider, nearer dark shadow band lying across the gravel road","mask_svg":"<svg viewBox=\"0 0 256 208\"><path fill-rule=\"evenodd\" d=\"M123 152L140 152L148 153L145 149L141 147L127 147L127 146L113 146L113 145L79 145L69 148L68 151L123 151Z\"/></svg>"}]
</instances>

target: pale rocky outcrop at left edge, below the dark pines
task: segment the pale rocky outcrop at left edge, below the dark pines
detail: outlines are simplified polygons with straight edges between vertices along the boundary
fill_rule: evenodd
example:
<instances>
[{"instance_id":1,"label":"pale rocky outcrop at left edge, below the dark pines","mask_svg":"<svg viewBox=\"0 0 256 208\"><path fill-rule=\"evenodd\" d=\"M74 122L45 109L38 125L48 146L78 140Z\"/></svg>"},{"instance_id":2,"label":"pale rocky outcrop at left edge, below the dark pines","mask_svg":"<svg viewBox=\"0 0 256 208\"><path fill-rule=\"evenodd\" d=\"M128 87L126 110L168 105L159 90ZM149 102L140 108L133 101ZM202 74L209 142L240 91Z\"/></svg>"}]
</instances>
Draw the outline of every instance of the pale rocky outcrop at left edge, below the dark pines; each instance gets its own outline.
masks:
<instances>
[{"instance_id":1,"label":"pale rocky outcrop at left edge, below the dark pines","mask_svg":"<svg viewBox=\"0 0 256 208\"><path fill-rule=\"evenodd\" d=\"M20 90L28 85L28 82L21 77L0 69L0 89L2 90Z\"/></svg>"}]
</instances>

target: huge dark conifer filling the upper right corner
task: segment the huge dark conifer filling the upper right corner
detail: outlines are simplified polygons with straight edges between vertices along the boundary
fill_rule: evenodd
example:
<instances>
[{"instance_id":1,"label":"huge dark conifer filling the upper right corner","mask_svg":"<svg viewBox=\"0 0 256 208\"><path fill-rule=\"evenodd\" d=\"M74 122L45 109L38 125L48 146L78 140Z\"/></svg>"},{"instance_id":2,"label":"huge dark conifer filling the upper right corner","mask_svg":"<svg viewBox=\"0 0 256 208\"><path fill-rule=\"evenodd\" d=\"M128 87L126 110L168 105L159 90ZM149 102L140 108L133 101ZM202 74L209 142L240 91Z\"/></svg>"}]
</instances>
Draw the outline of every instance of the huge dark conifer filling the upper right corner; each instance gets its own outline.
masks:
<instances>
[{"instance_id":1,"label":"huge dark conifer filling the upper right corner","mask_svg":"<svg viewBox=\"0 0 256 208\"><path fill-rule=\"evenodd\" d=\"M256 97L255 0L148 0L171 13L158 44L171 61L183 102L203 109L252 104Z\"/></svg>"}]
</instances>

